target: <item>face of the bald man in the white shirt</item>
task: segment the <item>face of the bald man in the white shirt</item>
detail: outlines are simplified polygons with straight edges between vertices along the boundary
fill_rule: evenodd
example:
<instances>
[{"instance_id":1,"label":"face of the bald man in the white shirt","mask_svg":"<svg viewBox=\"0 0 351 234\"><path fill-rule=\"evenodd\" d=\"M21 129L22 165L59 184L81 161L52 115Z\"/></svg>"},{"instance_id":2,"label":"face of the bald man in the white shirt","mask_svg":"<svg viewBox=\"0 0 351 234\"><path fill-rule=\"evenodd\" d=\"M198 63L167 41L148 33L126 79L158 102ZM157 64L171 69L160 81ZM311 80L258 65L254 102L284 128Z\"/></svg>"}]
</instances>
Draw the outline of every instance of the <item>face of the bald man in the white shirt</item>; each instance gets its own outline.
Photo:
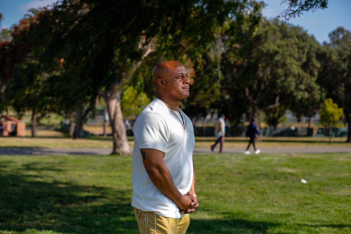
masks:
<instances>
[{"instance_id":1,"label":"face of the bald man in the white shirt","mask_svg":"<svg viewBox=\"0 0 351 234\"><path fill-rule=\"evenodd\" d=\"M171 98L183 100L189 96L188 74L181 64L169 70L166 78L166 92Z\"/></svg>"}]
</instances>

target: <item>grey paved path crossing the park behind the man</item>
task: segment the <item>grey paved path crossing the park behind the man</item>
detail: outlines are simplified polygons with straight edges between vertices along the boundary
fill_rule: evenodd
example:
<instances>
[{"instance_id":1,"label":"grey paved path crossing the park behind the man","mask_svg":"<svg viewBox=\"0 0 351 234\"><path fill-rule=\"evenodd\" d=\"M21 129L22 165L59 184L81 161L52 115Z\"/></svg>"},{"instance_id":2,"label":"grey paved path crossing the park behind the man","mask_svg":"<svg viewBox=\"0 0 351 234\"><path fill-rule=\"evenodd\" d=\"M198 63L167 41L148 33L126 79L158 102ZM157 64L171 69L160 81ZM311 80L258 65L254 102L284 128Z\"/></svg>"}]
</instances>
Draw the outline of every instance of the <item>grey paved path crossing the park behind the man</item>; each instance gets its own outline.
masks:
<instances>
[{"instance_id":1,"label":"grey paved path crossing the park behind the man","mask_svg":"<svg viewBox=\"0 0 351 234\"><path fill-rule=\"evenodd\" d=\"M351 147L277 147L264 148L261 153L342 153L351 152ZM243 154L241 148L225 148L224 153ZM0 155L108 155L111 149L104 148L70 148L70 149L48 149L48 148L0 148ZM212 153L210 148L195 148L194 154ZM213 153L217 153L217 150Z\"/></svg>"}]
</instances>

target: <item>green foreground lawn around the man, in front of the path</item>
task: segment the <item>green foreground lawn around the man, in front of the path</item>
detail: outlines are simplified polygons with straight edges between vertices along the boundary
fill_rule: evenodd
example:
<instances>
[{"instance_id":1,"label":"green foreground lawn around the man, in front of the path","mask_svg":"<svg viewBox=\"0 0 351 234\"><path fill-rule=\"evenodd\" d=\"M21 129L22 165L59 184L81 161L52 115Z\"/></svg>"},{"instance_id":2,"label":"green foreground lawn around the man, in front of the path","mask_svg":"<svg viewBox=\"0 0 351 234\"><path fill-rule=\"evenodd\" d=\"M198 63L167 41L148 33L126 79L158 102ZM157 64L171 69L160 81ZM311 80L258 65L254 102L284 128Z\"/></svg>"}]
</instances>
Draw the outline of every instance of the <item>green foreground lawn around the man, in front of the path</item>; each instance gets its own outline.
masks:
<instances>
[{"instance_id":1,"label":"green foreground lawn around the man, in front of the path","mask_svg":"<svg viewBox=\"0 0 351 234\"><path fill-rule=\"evenodd\" d=\"M194 162L200 207L187 233L351 232L351 153ZM0 233L138 233L131 167L120 156L0 156Z\"/></svg>"}]
</instances>

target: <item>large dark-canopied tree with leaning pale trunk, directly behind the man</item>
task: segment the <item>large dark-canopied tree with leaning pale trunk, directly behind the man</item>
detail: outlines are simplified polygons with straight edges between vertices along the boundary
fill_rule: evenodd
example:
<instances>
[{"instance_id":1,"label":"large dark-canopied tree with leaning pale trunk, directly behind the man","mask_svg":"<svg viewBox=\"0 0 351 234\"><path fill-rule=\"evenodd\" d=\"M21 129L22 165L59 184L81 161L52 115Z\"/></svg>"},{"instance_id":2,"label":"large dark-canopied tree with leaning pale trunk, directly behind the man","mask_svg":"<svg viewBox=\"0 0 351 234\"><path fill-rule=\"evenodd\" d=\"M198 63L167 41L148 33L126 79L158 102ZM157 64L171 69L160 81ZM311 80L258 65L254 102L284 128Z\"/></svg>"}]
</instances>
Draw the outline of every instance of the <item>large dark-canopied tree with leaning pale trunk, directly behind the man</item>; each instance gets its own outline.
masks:
<instances>
[{"instance_id":1,"label":"large dark-canopied tree with leaning pale trunk, directly behind the man","mask_svg":"<svg viewBox=\"0 0 351 234\"><path fill-rule=\"evenodd\" d=\"M13 42L27 46L21 56L26 66L27 58L40 65L33 76L46 77L56 111L75 112L79 123L101 95L110 115L113 153L129 154L120 98L128 83L138 82L136 72L163 59L181 60L196 74L195 97L201 98L192 102L201 103L209 92L218 92L221 79L219 61L211 56L213 46L225 30L252 32L260 7L256 1L62 0L34 12L27 19L30 36ZM87 103L90 108L85 109Z\"/></svg>"}]
</instances>

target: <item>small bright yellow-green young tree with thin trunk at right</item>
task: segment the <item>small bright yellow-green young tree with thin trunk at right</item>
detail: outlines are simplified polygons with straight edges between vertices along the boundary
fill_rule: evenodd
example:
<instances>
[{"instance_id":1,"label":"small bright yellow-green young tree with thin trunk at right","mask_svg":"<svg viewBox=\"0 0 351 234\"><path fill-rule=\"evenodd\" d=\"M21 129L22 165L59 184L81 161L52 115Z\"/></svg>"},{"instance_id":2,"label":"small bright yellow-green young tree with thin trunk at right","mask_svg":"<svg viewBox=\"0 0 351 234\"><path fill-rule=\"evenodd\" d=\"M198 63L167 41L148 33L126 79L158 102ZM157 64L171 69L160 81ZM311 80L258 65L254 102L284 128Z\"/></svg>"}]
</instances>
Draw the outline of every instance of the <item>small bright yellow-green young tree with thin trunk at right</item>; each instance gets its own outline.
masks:
<instances>
[{"instance_id":1,"label":"small bright yellow-green young tree with thin trunk at right","mask_svg":"<svg viewBox=\"0 0 351 234\"><path fill-rule=\"evenodd\" d=\"M343 116L343 108L339 108L333 99L328 98L324 101L323 109L319 113L320 122L329 128L329 144L331 144L332 126Z\"/></svg>"}]
</instances>

